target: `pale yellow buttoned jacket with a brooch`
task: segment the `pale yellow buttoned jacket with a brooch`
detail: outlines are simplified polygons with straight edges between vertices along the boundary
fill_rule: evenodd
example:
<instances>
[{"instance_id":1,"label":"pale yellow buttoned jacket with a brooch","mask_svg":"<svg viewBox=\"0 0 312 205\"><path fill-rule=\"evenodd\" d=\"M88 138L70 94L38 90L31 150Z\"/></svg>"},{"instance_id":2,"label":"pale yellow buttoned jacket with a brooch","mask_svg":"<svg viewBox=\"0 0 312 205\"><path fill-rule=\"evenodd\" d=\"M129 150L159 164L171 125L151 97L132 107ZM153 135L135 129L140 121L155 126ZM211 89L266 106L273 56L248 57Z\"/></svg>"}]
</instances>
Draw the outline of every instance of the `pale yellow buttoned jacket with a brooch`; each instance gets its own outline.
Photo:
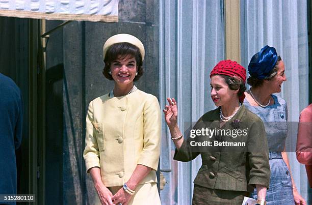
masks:
<instances>
[{"instance_id":1,"label":"pale yellow buttoned jacket with a brooch","mask_svg":"<svg viewBox=\"0 0 312 205\"><path fill-rule=\"evenodd\" d=\"M151 167L140 184L157 182L160 156L160 106L143 91L90 102L86 119L86 170L100 167L105 186L122 186L137 164Z\"/></svg>"}]
</instances>

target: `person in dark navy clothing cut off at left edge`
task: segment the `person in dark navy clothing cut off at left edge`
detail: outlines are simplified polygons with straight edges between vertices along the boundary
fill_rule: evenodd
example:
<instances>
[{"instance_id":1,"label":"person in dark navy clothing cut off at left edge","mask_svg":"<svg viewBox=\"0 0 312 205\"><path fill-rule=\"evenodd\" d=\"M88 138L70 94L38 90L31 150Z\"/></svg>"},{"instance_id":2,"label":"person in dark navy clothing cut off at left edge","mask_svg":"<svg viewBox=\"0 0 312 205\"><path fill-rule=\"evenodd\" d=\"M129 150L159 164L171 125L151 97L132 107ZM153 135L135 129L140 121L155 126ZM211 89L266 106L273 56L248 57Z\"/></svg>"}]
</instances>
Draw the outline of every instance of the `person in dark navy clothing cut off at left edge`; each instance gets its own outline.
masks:
<instances>
[{"instance_id":1,"label":"person in dark navy clothing cut off at left edge","mask_svg":"<svg viewBox=\"0 0 312 205\"><path fill-rule=\"evenodd\" d=\"M16 194L15 150L21 143L22 115L19 88L0 73L0 194Z\"/></svg>"}]
</instances>

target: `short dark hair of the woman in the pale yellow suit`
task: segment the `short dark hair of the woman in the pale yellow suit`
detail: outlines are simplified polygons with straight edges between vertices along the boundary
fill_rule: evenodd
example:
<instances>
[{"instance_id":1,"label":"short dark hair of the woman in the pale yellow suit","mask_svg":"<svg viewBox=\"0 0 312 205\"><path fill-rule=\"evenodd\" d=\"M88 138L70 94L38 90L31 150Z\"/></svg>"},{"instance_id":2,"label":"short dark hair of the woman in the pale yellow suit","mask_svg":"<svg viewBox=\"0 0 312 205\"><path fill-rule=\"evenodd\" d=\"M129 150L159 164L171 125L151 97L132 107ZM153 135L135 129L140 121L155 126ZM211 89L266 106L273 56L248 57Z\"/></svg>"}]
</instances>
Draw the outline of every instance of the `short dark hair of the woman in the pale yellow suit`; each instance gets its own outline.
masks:
<instances>
[{"instance_id":1,"label":"short dark hair of the woman in the pale yellow suit","mask_svg":"<svg viewBox=\"0 0 312 205\"><path fill-rule=\"evenodd\" d=\"M127 56L136 58L138 75L133 81L137 81L144 73L142 55L139 48L131 43L115 43L107 50L104 58L105 66L103 68L103 75L109 79L114 80L112 75L109 74L111 70L111 63L117 59L124 59Z\"/></svg>"}]
</instances>

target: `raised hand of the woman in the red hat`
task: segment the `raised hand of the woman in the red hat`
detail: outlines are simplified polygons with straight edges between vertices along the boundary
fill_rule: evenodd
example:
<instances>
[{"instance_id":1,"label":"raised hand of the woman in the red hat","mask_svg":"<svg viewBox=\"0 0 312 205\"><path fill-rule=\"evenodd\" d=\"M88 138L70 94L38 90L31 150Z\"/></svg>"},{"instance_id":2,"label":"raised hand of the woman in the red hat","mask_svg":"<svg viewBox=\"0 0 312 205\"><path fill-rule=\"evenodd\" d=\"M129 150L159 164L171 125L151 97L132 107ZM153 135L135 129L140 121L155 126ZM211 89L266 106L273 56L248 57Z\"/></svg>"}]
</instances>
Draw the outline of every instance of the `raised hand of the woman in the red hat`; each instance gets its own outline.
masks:
<instances>
[{"instance_id":1,"label":"raised hand of the woman in the red hat","mask_svg":"<svg viewBox=\"0 0 312 205\"><path fill-rule=\"evenodd\" d=\"M177 126L177 104L174 98L167 98L169 105L165 106L163 110L165 113L165 120L169 128Z\"/></svg>"}]
</instances>

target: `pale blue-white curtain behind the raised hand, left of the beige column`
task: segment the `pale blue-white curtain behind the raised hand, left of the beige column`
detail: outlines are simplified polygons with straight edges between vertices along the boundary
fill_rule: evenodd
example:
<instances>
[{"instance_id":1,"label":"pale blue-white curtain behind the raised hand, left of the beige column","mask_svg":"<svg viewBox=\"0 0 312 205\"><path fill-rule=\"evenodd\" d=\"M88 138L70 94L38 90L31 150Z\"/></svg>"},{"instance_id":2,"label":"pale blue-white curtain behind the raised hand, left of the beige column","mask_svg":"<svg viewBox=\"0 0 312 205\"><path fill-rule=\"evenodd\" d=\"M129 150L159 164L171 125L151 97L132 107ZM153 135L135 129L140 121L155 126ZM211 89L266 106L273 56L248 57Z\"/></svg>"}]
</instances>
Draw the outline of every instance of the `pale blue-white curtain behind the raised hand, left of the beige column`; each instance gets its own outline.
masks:
<instances>
[{"instance_id":1,"label":"pale blue-white curtain behind the raised hand, left of the beige column","mask_svg":"<svg viewBox=\"0 0 312 205\"><path fill-rule=\"evenodd\" d=\"M223 1L160 1L160 102L177 100L178 123L196 122L215 108L210 98L210 71L224 59ZM174 144L162 119L160 168L167 180L162 204L191 204L193 180L201 166L173 160Z\"/></svg>"}]
</instances>

